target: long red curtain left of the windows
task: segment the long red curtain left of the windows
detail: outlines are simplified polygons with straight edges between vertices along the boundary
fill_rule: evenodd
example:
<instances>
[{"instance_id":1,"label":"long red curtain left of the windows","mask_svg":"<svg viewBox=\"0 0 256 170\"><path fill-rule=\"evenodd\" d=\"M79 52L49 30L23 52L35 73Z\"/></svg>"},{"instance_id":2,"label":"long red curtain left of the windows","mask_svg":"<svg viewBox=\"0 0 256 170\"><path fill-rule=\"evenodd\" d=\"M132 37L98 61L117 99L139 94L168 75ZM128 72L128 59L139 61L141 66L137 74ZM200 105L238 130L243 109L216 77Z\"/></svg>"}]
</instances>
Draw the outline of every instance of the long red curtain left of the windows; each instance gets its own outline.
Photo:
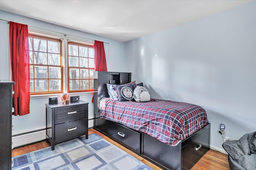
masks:
<instances>
[{"instance_id":1,"label":"long red curtain left of the windows","mask_svg":"<svg viewBox=\"0 0 256 170\"><path fill-rule=\"evenodd\" d=\"M30 113L30 64L28 25L10 22L10 61L12 69L14 115Z\"/></svg>"}]
</instances>

